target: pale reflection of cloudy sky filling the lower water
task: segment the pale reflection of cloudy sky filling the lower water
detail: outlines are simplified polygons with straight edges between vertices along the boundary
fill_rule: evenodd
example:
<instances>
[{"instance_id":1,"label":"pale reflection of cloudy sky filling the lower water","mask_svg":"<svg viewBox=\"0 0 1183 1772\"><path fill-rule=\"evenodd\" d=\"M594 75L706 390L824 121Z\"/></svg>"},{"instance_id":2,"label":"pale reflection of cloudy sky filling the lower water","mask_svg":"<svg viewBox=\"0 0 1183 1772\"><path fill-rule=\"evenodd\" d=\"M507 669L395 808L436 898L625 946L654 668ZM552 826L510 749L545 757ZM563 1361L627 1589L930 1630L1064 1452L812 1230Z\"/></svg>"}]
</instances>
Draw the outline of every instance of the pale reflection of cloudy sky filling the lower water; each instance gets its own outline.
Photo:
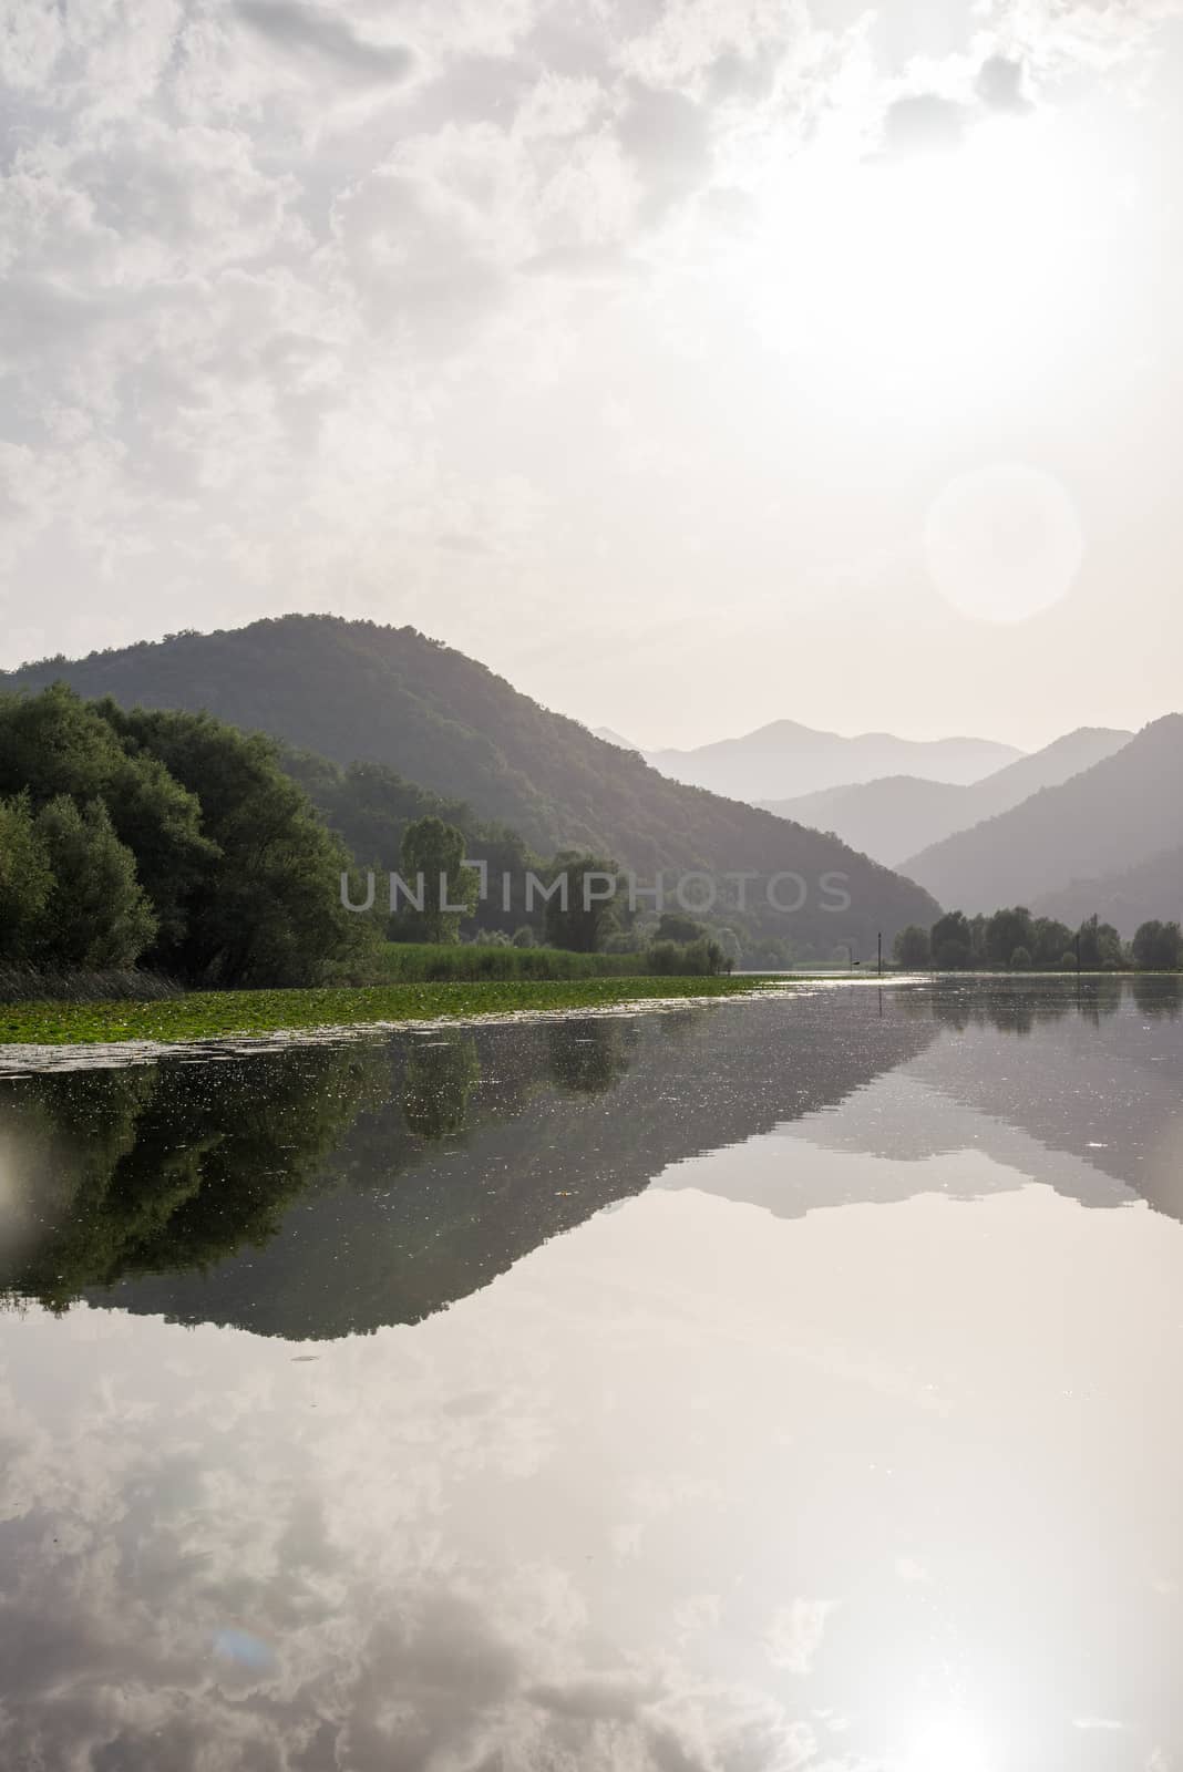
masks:
<instances>
[{"instance_id":1,"label":"pale reflection of cloudy sky filling the lower water","mask_svg":"<svg viewBox=\"0 0 1183 1772\"><path fill-rule=\"evenodd\" d=\"M1146 1763L1183 1722L1181 1235L1041 1187L655 1191L312 1364L2 1318L0 1758L854 1772L960 1705L1073 1772L1071 1719L1121 1715Z\"/></svg>"}]
</instances>

